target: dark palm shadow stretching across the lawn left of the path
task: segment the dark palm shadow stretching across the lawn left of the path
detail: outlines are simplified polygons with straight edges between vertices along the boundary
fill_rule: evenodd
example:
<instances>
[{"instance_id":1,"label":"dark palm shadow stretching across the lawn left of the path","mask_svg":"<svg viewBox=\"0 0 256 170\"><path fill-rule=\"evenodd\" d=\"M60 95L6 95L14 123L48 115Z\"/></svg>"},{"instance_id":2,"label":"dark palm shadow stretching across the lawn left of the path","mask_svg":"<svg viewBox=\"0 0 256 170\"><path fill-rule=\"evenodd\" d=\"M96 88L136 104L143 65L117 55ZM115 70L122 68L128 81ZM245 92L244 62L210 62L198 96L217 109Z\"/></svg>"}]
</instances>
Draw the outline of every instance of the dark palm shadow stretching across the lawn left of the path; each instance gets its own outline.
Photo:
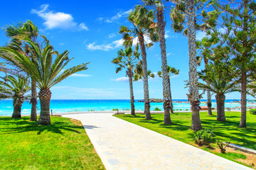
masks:
<instances>
[{"instance_id":1,"label":"dark palm shadow stretching across the lawn left of the path","mask_svg":"<svg viewBox=\"0 0 256 170\"><path fill-rule=\"evenodd\" d=\"M38 135L41 135L42 132L53 132L63 135L63 130L80 133L79 129L83 129L83 127L70 125L67 120L63 122L52 121L50 125L38 125L36 121L29 121L29 118L0 118L0 133L2 134L37 132Z\"/></svg>"}]
</instances>

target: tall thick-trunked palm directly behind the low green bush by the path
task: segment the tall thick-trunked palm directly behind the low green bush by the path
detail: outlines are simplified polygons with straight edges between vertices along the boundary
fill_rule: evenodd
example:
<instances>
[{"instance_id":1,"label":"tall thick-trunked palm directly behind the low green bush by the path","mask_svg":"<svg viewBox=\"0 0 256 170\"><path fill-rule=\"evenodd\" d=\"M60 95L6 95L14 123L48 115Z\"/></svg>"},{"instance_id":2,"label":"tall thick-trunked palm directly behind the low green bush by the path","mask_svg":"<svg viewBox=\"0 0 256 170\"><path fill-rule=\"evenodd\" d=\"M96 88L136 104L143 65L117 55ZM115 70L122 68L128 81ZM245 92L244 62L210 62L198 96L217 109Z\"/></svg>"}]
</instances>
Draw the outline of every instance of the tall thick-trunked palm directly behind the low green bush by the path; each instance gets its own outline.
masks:
<instances>
[{"instance_id":1,"label":"tall thick-trunked palm directly behind the low green bush by the path","mask_svg":"<svg viewBox=\"0 0 256 170\"><path fill-rule=\"evenodd\" d=\"M199 115L201 95L198 92L198 77L196 75L196 30L206 31L214 28L218 18L215 11L208 12L209 5L208 1L182 0L175 1L175 8L171 10L171 20L173 21L171 27L174 31L181 32L184 26L187 26L183 33L188 37L190 86L187 95L192 108L191 130L202 129Z\"/></svg>"}]
</instances>

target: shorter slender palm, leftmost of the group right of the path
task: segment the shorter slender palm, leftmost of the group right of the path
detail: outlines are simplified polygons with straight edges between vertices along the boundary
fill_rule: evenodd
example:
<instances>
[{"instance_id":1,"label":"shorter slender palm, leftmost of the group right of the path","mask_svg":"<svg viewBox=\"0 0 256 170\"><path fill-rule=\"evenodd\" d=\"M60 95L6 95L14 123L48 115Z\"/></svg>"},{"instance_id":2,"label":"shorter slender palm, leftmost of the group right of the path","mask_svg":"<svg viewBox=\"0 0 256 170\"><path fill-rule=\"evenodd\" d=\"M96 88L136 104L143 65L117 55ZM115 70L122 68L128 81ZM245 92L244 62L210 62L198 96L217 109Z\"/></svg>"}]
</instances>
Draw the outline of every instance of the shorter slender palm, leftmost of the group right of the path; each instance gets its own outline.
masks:
<instances>
[{"instance_id":1,"label":"shorter slender palm, leftmost of the group right of the path","mask_svg":"<svg viewBox=\"0 0 256 170\"><path fill-rule=\"evenodd\" d=\"M117 57L114 57L111 62L117 64L116 73L120 72L122 69L127 69L126 74L129 77L129 89L130 89L130 101L131 101L131 115L135 115L134 108L134 92L132 85L132 77L134 75L134 67L139 60L140 53L138 52L139 46L135 47L132 51L132 47L126 47L125 50L119 50L117 52Z\"/></svg>"}]
</instances>

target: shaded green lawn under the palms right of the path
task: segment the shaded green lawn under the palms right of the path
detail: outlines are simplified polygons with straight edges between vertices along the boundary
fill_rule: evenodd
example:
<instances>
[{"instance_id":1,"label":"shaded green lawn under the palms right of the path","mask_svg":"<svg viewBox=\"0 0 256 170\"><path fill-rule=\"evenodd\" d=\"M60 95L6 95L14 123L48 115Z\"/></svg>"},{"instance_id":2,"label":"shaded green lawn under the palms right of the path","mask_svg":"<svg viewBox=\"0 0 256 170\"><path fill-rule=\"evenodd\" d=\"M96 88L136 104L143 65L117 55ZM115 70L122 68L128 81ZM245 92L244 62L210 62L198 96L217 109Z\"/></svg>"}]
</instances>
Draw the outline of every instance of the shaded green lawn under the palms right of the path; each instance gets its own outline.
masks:
<instances>
[{"instance_id":1,"label":"shaded green lawn under the palms right of the path","mask_svg":"<svg viewBox=\"0 0 256 170\"><path fill-rule=\"evenodd\" d=\"M247 113L247 128L238 128L240 124L240 113L238 112L225 112L226 122L219 122L216 119L216 113L213 115L207 115L207 112L201 112L201 123L203 128L212 130L216 139L224 142L230 141L233 144L248 147L250 149L256 149L256 115ZM163 135L172 137L181 142L185 142L189 145L194 145L193 137L195 132L190 130L191 128L191 113L173 113L171 114L172 124L164 124L164 114L151 114L152 120L146 120L144 114L132 115L114 115L117 118L127 120L130 123L140 125L144 128L154 130ZM211 147L218 147L216 144L212 144ZM238 159L246 159L243 154L239 153L226 153L221 154L216 149L209 147L201 147L208 152L218 154L220 157L238 162Z\"/></svg>"}]
</instances>

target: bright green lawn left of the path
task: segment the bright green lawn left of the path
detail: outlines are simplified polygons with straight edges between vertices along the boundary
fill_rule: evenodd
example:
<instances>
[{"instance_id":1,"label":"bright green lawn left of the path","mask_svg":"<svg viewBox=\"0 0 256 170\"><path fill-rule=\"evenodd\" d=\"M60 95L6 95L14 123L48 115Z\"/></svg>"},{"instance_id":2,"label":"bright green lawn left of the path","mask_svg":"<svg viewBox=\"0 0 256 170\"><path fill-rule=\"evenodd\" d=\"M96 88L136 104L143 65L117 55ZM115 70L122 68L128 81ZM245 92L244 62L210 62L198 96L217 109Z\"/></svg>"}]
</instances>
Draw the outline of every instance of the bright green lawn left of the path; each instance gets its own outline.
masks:
<instances>
[{"instance_id":1,"label":"bright green lawn left of the path","mask_svg":"<svg viewBox=\"0 0 256 170\"><path fill-rule=\"evenodd\" d=\"M105 169L78 120L0 117L0 169Z\"/></svg>"}]
</instances>

